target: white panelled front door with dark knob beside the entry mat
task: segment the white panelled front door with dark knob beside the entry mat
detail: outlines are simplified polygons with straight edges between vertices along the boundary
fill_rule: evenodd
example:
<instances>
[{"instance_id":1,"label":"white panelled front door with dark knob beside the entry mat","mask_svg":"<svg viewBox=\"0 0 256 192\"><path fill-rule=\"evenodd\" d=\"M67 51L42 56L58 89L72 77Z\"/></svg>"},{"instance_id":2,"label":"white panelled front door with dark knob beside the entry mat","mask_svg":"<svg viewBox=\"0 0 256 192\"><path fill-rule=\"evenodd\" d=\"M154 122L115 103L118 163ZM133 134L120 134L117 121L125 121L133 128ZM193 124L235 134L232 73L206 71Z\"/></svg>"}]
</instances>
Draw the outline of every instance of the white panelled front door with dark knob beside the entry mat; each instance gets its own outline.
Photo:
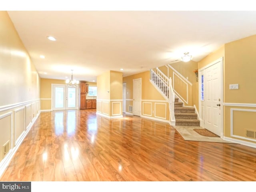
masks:
<instances>
[{"instance_id":1,"label":"white panelled front door with dark knob beside the entry mat","mask_svg":"<svg viewBox=\"0 0 256 192\"><path fill-rule=\"evenodd\" d=\"M204 70L205 105L204 124L205 128L218 136L221 135L221 62Z\"/></svg>"}]
</instances>

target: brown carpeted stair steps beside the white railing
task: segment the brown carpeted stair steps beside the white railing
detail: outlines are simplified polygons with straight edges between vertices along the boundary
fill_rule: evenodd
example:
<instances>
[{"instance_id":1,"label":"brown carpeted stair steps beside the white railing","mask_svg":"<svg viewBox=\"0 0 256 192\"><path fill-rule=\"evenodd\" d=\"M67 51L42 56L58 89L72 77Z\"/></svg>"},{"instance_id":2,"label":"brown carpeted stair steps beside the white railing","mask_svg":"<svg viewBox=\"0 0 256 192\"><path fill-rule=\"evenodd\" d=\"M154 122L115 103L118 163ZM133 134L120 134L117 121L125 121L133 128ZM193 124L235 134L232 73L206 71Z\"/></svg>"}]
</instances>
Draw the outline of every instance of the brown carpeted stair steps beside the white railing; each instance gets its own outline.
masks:
<instances>
[{"instance_id":1,"label":"brown carpeted stair steps beside the white railing","mask_svg":"<svg viewBox=\"0 0 256 192\"><path fill-rule=\"evenodd\" d=\"M183 107L182 102L178 102L175 98L174 102L174 116L176 125L181 126L200 126L200 121L197 119L194 107Z\"/></svg>"}]
</instances>

